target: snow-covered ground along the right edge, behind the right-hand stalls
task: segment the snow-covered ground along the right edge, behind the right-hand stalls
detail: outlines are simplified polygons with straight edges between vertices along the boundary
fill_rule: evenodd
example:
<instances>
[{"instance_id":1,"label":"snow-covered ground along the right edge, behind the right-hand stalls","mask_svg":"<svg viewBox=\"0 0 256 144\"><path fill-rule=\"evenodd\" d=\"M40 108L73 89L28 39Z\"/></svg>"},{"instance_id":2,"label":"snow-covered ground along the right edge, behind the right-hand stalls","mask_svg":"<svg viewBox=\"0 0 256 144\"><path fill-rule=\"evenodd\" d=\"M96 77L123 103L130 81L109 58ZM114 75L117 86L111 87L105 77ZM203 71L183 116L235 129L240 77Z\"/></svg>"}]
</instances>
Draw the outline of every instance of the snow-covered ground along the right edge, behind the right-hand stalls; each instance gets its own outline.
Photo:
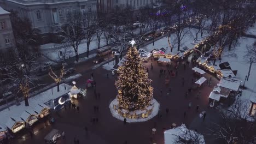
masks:
<instances>
[{"instance_id":1,"label":"snow-covered ground along the right edge, behind the right-hand stalls","mask_svg":"<svg viewBox=\"0 0 256 144\"><path fill-rule=\"evenodd\" d=\"M241 80L241 85L245 82L245 77L248 75L249 71L249 56L247 53L246 46L251 46L256 39L242 37L238 40L238 45L228 51L228 49L224 49L222 54L222 61L216 61L216 65L223 62L229 62L232 70L237 70L236 79ZM245 86L247 89L244 89L241 97L239 98L248 106L251 106L250 100L256 100L256 63L252 64L251 73L249 75L249 80L245 82ZM248 111L249 112L249 111ZM247 112L247 113L248 113Z\"/></svg>"}]
</instances>

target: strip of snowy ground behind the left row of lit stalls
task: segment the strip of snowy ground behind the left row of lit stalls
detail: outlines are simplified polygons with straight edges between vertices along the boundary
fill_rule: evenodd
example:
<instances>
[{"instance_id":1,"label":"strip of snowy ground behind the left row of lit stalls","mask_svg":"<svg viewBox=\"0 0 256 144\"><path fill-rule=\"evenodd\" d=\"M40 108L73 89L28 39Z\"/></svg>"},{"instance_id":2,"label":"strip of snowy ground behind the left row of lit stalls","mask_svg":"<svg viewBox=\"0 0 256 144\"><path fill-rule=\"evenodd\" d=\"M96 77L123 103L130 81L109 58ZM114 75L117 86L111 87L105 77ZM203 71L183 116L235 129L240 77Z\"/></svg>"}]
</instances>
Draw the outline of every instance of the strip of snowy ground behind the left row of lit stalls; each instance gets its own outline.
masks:
<instances>
[{"instance_id":1,"label":"strip of snowy ground behind the left row of lit stalls","mask_svg":"<svg viewBox=\"0 0 256 144\"><path fill-rule=\"evenodd\" d=\"M30 106L25 106L25 101L21 101L20 105L13 105L10 106L9 109L4 109L2 111L0 111L0 117L1 117L1 121L0 124L2 125L9 125L8 128L11 128L12 126L10 126L11 124L15 124L15 122L11 122L13 121L11 119L11 121L9 121L9 119L12 117L14 118L16 121L21 121L22 119L21 117L26 121L26 115L24 114L25 111L35 115L35 114L39 114L44 107L49 108L48 106L44 105L44 103L46 103L49 100L61 97L61 95L64 95L66 93L69 92L69 89L71 88L71 86L66 84L66 90L64 88L64 84L62 83L60 85L60 92L57 92L57 86L53 88L53 94L51 92L51 89L48 89L48 91L45 91L43 93L40 93L34 97L31 97L28 99L28 103L30 104ZM21 116L23 114L23 116Z\"/></svg>"}]
</instances>

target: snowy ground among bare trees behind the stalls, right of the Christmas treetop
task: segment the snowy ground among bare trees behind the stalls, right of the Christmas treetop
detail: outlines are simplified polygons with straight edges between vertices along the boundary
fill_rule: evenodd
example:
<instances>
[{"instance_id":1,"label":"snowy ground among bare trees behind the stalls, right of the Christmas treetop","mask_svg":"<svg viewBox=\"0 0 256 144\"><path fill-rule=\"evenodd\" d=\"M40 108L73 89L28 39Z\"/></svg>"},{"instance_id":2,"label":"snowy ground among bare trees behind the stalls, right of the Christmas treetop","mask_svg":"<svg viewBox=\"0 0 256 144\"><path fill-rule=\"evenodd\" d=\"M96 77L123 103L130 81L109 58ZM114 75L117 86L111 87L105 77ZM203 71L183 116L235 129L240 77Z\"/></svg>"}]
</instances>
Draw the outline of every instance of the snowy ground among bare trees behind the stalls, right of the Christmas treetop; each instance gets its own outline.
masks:
<instances>
[{"instance_id":1,"label":"snowy ground among bare trees behind the stalls, right of the Christmas treetop","mask_svg":"<svg viewBox=\"0 0 256 144\"><path fill-rule=\"evenodd\" d=\"M183 47L185 47L185 46L187 46L188 49L193 49L195 44L200 43L200 41L203 40L203 38L205 38L205 37L207 37L209 35L207 33L207 31L203 31L203 37L201 37L201 33L199 33L197 35L197 41L195 41L196 32L197 31L198 31L198 29L195 29L195 28L190 28L190 29L189 28L185 28L184 29L183 33L187 32L187 34L184 35L184 38L181 41L180 50L182 50ZM172 50L173 54L178 53L176 38L177 38L176 37L176 33L171 34L170 41L171 41L171 44L174 47L173 50ZM162 47L164 47L165 49L166 49L166 47L168 47L166 53L170 53L171 52L171 49L168 46L168 37L167 37L167 35L164 38L156 40L154 46L153 46L153 43L152 43L152 44L149 44L147 46L144 46L143 49L146 49L147 51L152 51L153 49L161 49Z\"/></svg>"}]
</instances>

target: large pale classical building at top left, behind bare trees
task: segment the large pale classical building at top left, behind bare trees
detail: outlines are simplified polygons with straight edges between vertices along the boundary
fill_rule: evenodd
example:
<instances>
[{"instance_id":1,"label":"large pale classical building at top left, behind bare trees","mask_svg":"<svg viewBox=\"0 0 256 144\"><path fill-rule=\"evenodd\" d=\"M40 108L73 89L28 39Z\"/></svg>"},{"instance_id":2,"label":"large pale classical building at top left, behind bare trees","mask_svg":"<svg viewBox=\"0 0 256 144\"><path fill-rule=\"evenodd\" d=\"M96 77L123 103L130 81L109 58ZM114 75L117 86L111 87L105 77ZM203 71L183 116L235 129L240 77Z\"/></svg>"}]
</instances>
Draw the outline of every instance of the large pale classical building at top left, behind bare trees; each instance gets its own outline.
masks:
<instances>
[{"instance_id":1,"label":"large pale classical building at top left, behind bare trees","mask_svg":"<svg viewBox=\"0 0 256 144\"><path fill-rule=\"evenodd\" d=\"M97 11L96 0L0 0L0 5L6 10L18 11L21 17L28 17L33 28L50 39L67 23L68 14L81 11L96 16Z\"/></svg>"}]
</instances>

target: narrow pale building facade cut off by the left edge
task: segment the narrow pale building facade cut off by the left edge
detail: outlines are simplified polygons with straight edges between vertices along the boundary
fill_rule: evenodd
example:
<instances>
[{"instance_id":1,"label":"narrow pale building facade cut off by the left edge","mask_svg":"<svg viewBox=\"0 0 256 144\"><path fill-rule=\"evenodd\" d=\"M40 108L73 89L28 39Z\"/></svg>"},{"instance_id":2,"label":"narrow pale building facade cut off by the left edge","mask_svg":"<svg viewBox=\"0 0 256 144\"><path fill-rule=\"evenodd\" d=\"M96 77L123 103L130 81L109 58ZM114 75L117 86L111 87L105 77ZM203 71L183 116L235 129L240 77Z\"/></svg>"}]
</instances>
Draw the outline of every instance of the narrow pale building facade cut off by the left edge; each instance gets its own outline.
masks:
<instances>
[{"instance_id":1,"label":"narrow pale building facade cut off by the left edge","mask_svg":"<svg viewBox=\"0 0 256 144\"><path fill-rule=\"evenodd\" d=\"M15 40L11 27L9 12L0 7L0 50L5 51L14 47Z\"/></svg>"}]
</instances>

